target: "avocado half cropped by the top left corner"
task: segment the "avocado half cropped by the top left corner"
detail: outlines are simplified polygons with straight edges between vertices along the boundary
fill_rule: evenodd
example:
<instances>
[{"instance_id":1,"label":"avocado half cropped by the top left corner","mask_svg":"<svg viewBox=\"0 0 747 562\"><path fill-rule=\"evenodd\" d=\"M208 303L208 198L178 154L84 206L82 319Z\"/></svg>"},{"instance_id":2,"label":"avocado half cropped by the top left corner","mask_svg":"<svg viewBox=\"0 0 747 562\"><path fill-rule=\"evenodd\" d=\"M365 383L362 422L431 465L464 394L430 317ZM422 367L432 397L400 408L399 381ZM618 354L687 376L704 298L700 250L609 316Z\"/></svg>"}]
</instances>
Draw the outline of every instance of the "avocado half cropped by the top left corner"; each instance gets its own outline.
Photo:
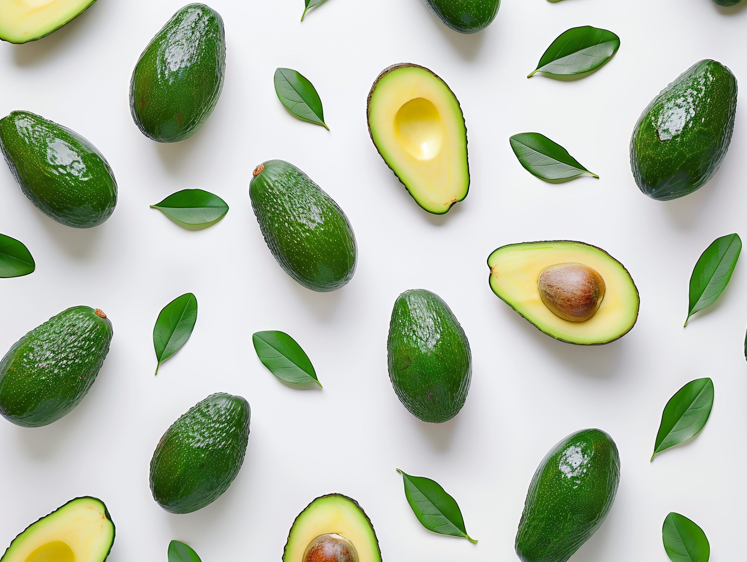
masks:
<instances>
[{"instance_id":1,"label":"avocado half cropped by the top left corner","mask_svg":"<svg viewBox=\"0 0 747 562\"><path fill-rule=\"evenodd\" d=\"M96 0L0 0L0 39L28 43L57 31Z\"/></svg>"}]
</instances>

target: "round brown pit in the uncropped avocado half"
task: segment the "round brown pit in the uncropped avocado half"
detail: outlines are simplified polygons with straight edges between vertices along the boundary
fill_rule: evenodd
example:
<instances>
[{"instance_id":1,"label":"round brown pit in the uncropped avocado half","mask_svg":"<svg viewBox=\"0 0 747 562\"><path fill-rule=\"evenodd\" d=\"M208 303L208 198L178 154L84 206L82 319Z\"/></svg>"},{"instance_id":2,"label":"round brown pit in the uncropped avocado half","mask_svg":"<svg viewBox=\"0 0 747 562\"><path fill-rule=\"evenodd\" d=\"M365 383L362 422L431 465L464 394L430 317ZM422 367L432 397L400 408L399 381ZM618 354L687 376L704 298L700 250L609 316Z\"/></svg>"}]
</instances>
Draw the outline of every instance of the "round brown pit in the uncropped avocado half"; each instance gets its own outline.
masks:
<instances>
[{"instance_id":1,"label":"round brown pit in the uncropped avocado half","mask_svg":"<svg viewBox=\"0 0 747 562\"><path fill-rule=\"evenodd\" d=\"M581 263L559 263L539 274L542 302L556 316L571 322L588 320L604 299L604 279Z\"/></svg>"}]
</instances>

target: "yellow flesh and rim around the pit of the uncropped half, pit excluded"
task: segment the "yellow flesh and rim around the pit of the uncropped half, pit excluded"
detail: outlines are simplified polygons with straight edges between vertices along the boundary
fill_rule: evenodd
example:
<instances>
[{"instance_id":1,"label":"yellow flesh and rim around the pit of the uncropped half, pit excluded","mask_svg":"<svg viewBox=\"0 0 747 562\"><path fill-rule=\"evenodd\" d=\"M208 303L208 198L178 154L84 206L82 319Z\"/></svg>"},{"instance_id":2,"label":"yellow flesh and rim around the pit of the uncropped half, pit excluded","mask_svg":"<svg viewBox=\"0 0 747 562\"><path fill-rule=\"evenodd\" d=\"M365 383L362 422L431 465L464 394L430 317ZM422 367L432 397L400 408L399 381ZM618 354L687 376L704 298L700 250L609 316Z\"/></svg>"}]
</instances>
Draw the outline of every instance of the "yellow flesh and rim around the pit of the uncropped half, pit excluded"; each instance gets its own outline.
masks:
<instances>
[{"instance_id":1,"label":"yellow flesh and rim around the pit of the uncropped half, pit excluded","mask_svg":"<svg viewBox=\"0 0 747 562\"><path fill-rule=\"evenodd\" d=\"M557 316L545 305L539 291L540 273L564 263L586 266L604 280L601 304L583 322ZM623 337L638 318L638 290L630 273L596 246L572 240L509 244L492 252L488 266L493 293L556 340L599 346Z\"/></svg>"}]
</instances>

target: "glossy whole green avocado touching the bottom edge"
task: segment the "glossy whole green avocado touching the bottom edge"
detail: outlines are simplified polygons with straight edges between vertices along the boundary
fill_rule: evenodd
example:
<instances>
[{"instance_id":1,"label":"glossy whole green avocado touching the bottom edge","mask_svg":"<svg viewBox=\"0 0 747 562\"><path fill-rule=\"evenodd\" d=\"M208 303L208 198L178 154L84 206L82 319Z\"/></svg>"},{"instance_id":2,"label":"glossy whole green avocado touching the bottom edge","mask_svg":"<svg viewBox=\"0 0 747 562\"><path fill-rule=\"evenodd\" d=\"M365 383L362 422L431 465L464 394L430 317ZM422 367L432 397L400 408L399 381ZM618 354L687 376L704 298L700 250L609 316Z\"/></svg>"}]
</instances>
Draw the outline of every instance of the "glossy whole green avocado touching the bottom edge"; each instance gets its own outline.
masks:
<instances>
[{"instance_id":1,"label":"glossy whole green avocado touching the bottom edge","mask_svg":"<svg viewBox=\"0 0 747 562\"><path fill-rule=\"evenodd\" d=\"M565 562L600 527L615 501L620 457L612 437L583 429L565 437L537 467L515 549L523 562Z\"/></svg>"}]
</instances>

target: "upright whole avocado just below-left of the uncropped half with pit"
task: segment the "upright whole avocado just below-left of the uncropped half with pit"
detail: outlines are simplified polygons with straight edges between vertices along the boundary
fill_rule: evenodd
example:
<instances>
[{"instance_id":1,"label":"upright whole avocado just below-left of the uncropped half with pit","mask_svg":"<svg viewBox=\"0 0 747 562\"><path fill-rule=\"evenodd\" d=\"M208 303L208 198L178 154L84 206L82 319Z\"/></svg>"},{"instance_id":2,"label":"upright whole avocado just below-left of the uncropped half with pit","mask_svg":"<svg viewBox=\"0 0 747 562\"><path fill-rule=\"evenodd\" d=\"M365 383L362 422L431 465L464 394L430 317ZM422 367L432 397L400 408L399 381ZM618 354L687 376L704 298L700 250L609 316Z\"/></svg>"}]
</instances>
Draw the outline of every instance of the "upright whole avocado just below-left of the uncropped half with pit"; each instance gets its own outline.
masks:
<instances>
[{"instance_id":1,"label":"upright whole avocado just below-left of the uncropped half with pit","mask_svg":"<svg viewBox=\"0 0 747 562\"><path fill-rule=\"evenodd\" d=\"M459 413L469 392L472 354L441 297L424 289L398 296L386 348L391 386L413 416L441 423Z\"/></svg>"}]
</instances>

